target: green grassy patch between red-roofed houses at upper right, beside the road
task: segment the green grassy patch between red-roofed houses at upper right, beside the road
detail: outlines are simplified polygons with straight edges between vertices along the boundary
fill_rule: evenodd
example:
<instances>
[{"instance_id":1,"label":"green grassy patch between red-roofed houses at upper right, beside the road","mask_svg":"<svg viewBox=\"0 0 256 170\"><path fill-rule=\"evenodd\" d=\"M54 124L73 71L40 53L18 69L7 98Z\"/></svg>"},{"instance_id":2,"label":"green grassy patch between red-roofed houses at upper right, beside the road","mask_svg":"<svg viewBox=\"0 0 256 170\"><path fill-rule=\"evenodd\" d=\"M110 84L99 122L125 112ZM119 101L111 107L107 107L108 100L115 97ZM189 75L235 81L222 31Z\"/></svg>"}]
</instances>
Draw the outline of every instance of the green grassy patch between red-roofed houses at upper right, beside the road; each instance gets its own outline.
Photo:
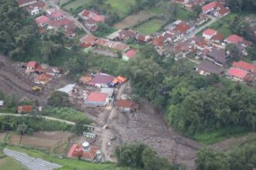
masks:
<instances>
[{"instance_id":1,"label":"green grassy patch between red-roofed houses at upper right, beside the road","mask_svg":"<svg viewBox=\"0 0 256 170\"><path fill-rule=\"evenodd\" d=\"M234 21L237 14L231 13L230 15L225 16L223 19L218 20L208 26L210 29L216 29L220 34L223 34L224 38L232 34L232 30L229 28L230 23Z\"/></svg>"}]
</instances>

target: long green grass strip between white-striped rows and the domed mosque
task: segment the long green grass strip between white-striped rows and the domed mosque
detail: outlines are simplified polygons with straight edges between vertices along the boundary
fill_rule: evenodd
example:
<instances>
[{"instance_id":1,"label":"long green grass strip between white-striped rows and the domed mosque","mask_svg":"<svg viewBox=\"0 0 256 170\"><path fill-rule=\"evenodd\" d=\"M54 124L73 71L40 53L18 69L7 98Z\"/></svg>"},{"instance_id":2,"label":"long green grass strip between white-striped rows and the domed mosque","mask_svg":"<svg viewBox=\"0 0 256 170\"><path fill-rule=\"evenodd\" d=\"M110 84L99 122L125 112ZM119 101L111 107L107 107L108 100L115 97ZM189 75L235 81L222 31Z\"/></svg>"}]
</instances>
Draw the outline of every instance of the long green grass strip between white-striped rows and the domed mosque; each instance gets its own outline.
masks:
<instances>
[{"instance_id":1,"label":"long green grass strip between white-striped rows and the domed mosque","mask_svg":"<svg viewBox=\"0 0 256 170\"><path fill-rule=\"evenodd\" d=\"M35 157L35 158L42 158L43 160L46 160L48 162L54 162L60 165L63 165L62 168L59 168L60 170L70 170L70 169L77 169L77 170L132 170L131 168L116 168L116 164L114 163L92 163L92 162L84 162L79 161L76 159L66 159L66 158L57 158L54 155L47 155L44 154L41 151L36 151L35 149L27 149L27 148L18 148L15 146L7 146L6 148L9 148L13 151L19 151L22 153L25 153L29 156ZM2 169L2 168L1 168ZM135 170L135 169L134 169Z\"/></svg>"}]
</instances>

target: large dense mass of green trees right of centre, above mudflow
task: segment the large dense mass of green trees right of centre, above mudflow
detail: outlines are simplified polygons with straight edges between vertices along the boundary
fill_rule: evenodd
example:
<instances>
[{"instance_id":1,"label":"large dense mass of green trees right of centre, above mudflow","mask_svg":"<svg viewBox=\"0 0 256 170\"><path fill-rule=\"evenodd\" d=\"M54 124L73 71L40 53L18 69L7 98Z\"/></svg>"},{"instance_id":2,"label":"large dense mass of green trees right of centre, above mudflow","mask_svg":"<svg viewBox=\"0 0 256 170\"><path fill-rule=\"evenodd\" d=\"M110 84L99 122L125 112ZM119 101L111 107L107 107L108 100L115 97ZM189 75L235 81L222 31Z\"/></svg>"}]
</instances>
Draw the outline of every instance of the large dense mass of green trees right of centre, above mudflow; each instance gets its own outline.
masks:
<instances>
[{"instance_id":1,"label":"large dense mass of green trees right of centre, above mudflow","mask_svg":"<svg viewBox=\"0 0 256 170\"><path fill-rule=\"evenodd\" d=\"M166 108L168 124L193 137L202 131L240 127L255 131L254 89L216 75L199 76L186 60L158 56L142 49L127 71L133 90Z\"/></svg>"}]
</instances>

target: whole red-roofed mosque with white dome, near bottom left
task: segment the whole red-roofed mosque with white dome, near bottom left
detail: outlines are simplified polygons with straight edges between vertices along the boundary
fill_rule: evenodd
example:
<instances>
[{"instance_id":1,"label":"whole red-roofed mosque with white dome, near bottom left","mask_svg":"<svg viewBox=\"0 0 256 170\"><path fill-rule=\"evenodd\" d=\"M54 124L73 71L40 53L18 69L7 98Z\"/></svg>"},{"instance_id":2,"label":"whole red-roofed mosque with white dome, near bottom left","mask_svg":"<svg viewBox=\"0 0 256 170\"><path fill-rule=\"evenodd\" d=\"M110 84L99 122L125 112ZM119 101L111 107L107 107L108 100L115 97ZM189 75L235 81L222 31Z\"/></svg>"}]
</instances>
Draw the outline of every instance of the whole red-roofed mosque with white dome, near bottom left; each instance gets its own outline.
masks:
<instances>
[{"instance_id":1,"label":"whole red-roofed mosque with white dome, near bottom left","mask_svg":"<svg viewBox=\"0 0 256 170\"><path fill-rule=\"evenodd\" d=\"M82 145L72 145L67 152L67 158L81 158L86 161L102 161L102 154L98 146L90 146L88 142Z\"/></svg>"}]
</instances>

